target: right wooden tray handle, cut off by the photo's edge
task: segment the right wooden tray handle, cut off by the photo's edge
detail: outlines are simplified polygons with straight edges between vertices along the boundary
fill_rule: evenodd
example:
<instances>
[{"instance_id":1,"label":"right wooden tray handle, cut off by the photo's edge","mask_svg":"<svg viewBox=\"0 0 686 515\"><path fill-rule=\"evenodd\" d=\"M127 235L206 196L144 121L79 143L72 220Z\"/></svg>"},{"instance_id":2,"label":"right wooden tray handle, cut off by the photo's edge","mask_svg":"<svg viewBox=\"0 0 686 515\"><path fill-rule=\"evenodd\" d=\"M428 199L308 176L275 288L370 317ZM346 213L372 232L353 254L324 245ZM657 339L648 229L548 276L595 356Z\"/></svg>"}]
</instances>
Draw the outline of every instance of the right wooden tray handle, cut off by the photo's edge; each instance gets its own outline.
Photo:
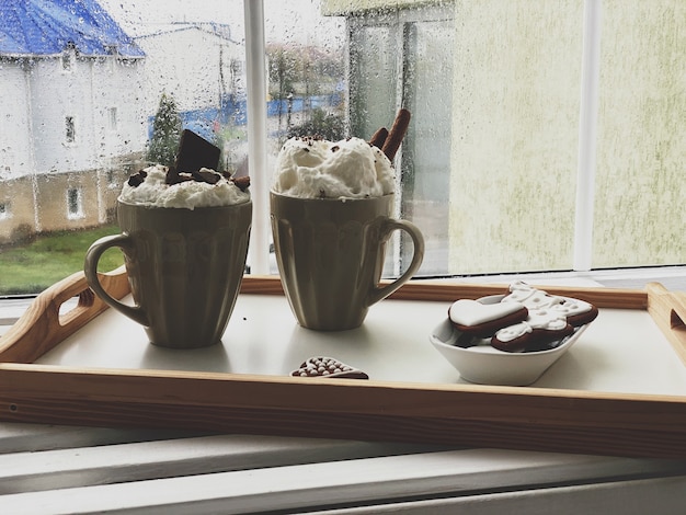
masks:
<instances>
[{"instance_id":1,"label":"right wooden tray handle, cut off by the photo's edge","mask_svg":"<svg viewBox=\"0 0 686 515\"><path fill-rule=\"evenodd\" d=\"M686 294L670 291L660 283L649 283L648 312L686 365Z\"/></svg>"}]
</instances>

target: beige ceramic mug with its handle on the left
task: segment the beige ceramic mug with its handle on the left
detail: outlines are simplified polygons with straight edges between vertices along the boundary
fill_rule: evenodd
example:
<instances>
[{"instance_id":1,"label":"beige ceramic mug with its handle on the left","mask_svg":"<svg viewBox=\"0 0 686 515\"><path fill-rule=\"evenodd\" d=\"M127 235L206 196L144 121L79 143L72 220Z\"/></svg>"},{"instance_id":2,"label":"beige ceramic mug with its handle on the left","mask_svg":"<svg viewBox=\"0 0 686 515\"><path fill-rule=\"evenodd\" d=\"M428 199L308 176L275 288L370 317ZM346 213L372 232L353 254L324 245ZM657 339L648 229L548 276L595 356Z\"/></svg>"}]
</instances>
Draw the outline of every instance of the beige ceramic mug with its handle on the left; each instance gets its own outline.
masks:
<instances>
[{"instance_id":1,"label":"beige ceramic mug with its handle on the left","mask_svg":"<svg viewBox=\"0 0 686 515\"><path fill-rule=\"evenodd\" d=\"M85 255L89 286L107 305L141 324L151 343L174 348L218 343L245 270L252 203L195 209L117 203L121 234L94 242ZM135 306L104 290L98 261L124 253Z\"/></svg>"}]
</instances>

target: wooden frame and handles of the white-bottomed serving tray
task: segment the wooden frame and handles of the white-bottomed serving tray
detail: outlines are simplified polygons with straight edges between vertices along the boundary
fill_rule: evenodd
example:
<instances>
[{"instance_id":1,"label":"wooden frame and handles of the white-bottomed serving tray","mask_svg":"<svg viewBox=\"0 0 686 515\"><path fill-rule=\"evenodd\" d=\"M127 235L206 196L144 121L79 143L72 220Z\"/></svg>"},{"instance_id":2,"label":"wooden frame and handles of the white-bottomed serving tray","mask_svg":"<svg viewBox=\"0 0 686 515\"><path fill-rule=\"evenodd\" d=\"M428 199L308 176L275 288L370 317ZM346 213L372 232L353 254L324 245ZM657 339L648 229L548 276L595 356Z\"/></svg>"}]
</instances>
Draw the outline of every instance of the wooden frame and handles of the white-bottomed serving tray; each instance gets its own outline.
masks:
<instances>
[{"instance_id":1,"label":"wooden frame and handles of the white-bottomed serving tray","mask_svg":"<svg viewBox=\"0 0 686 515\"><path fill-rule=\"evenodd\" d=\"M129 293L123 268L101 281L117 298ZM686 363L685 294L659 284L546 290L598 308L648 311ZM393 298L450 302L502 291L412 282ZM283 295L277 277L247 276L241 293ZM61 314L75 296L78 306ZM679 396L34 363L104 309L81 273L35 299L0 339L0 420L686 458L686 397Z\"/></svg>"}]
</instances>

